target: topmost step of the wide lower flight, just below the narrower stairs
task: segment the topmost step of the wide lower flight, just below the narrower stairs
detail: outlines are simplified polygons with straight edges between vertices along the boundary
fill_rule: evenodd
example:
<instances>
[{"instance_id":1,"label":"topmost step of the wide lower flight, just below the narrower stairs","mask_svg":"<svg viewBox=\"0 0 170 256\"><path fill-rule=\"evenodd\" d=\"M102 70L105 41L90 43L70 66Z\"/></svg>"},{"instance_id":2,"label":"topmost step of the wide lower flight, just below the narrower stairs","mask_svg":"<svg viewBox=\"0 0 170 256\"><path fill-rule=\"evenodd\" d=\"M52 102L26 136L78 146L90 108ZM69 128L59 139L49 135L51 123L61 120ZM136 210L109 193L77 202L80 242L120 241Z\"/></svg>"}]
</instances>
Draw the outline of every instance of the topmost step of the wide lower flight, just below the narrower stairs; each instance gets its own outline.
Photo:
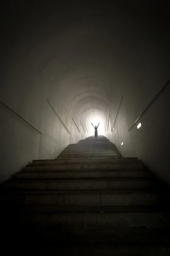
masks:
<instances>
[{"instance_id":1,"label":"topmost step of the wide lower flight, just below the narrower stairs","mask_svg":"<svg viewBox=\"0 0 170 256\"><path fill-rule=\"evenodd\" d=\"M126 164L131 164L133 163L136 166L142 166L143 167L143 163L137 159L137 157L134 158L85 158L85 159L81 159L81 158L73 158L70 160L62 160L62 159L49 159L49 160L33 160L32 161L32 166L50 166L50 165L63 165L63 164L79 164L79 163L88 163L89 166L91 164L118 164L118 163L126 163ZM130 167L129 167L130 168Z\"/></svg>"}]
</instances>

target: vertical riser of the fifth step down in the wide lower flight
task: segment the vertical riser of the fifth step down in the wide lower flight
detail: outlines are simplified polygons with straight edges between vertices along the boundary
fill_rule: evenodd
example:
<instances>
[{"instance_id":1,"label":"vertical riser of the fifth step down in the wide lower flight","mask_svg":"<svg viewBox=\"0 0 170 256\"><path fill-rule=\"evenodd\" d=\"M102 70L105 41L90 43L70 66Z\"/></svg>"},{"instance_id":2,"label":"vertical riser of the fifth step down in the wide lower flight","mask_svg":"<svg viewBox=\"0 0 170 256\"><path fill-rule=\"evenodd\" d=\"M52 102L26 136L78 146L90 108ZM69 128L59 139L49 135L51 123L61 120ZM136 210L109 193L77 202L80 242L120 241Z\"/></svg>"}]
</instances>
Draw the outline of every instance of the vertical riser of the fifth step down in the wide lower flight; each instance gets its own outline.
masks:
<instances>
[{"instance_id":1,"label":"vertical riser of the fifth step down in the wide lower flight","mask_svg":"<svg viewBox=\"0 0 170 256\"><path fill-rule=\"evenodd\" d=\"M14 201L14 198L12 198ZM18 199L17 199L18 202ZM161 205L162 198L154 193L111 193L111 194L46 194L26 195L26 205Z\"/></svg>"}]
</instances>

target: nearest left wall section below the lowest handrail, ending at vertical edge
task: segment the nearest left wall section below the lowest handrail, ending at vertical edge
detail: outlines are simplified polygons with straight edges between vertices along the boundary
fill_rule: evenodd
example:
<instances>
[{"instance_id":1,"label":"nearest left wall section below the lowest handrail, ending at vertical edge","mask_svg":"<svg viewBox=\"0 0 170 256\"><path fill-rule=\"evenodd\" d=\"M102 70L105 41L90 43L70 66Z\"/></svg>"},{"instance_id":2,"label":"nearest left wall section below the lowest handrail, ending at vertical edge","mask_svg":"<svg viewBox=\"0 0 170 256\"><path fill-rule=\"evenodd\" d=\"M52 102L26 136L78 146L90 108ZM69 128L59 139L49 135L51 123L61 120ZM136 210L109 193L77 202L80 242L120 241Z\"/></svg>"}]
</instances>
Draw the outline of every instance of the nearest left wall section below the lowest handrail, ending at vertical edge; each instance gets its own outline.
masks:
<instances>
[{"instance_id":1,"label":"nearest left wall section below the lowest handrail, ending at vertical edge","mask_svg":"<svg viewBox=\"0 0 170 256\"><path fill-rule=\"evenodd\" d=\"M0 180L38 159L42 133L0 103Z\"/></svg>"}]
</instances>

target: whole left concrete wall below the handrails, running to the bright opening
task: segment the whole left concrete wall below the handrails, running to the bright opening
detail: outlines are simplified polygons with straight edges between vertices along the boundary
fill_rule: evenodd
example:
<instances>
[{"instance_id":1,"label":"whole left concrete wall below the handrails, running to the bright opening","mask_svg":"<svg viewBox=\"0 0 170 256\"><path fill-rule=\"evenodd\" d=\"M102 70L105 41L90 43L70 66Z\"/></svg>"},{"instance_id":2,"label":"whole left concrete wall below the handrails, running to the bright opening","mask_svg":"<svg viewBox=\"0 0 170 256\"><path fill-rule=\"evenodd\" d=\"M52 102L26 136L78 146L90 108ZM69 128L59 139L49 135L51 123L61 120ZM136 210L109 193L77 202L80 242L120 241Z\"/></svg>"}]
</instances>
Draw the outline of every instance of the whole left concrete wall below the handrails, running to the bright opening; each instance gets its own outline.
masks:
<instances>
[{"instance_id":1,"label":"whole left concrete wall below the handrails, running to the bright opening","mask_svg":"<svg viewBox=\"0 0 170 256\"><path fill-rule=\"evenodd\" d=\"M33 159L54 159L70 143L84 139L85 132L77 131L69 112L70 131L47 101L40 130L8 106L0 103L0 180L6 180ZM35 117L36 118L36 117Z\"/></svg>"}]
</instances>

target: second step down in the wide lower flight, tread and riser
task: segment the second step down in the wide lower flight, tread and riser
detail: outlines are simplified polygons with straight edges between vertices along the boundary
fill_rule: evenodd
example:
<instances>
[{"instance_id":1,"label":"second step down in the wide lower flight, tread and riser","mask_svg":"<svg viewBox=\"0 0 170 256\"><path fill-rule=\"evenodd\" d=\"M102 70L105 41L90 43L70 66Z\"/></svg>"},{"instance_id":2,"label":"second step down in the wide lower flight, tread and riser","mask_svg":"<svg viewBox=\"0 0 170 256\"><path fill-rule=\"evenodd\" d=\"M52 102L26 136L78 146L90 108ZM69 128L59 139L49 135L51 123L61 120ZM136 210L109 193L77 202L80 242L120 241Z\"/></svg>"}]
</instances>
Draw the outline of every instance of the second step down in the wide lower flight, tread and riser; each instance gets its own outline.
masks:
<instances>
[{"instance_id":1,"label":"second step down in the wide lower flight, tread and riser","mask_svg":"<svg viewBox=\"0 0 170 256\"><path fill-rule=\"evenodd\" d=\"M115 158L116 159L116 158ZM118 158L117 158L118 159ZM92 159L98 160L98 159ZM105 159L104 159L105 160ZM74 163L70 160L62 160L62 162L67 162L66 164L60 163L58 165L50 164L49 165L30 165L26 166L23 172L49 172L49 171L115 171L115 170L143 170L144 166L142 163L87 163L89 161L83 161L81 163ZM78 160L77 160L78 162Z\"/></svg>"}]
</instances>

